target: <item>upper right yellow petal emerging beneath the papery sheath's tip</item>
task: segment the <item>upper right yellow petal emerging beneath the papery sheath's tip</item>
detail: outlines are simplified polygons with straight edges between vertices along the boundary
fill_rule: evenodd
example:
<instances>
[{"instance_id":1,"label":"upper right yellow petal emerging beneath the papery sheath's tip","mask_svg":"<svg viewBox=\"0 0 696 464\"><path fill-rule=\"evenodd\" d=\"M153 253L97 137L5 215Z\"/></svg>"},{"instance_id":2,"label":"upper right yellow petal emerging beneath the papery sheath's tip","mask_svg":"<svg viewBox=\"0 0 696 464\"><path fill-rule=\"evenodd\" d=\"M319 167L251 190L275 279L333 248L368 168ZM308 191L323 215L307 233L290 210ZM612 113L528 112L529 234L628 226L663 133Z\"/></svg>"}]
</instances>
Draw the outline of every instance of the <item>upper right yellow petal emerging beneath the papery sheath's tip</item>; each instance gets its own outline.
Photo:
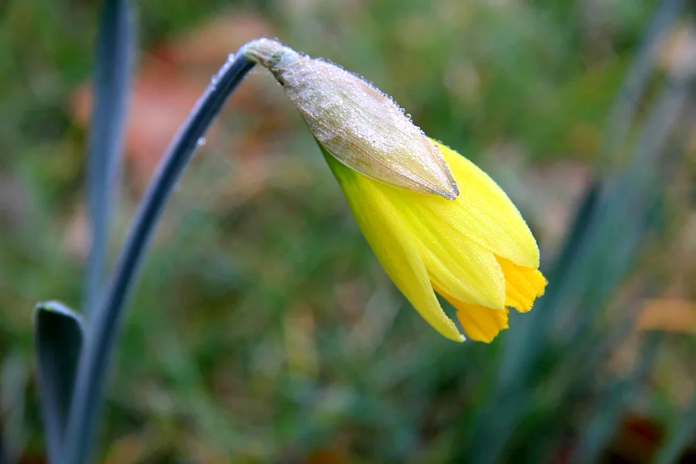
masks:
<instances>
[{"instance_id":1,"label":"upper right yellow petal emerging beneath the papery sheath's tip","mask_svg":"<svg viewBox=\"0 0 696 464\"><path fill-rule=\"evenodd\" d=\"M456 200L404 191L424 222L446 222L487 250L510 261L539 267L539 248L519 211L505 192L475 164L439 143L459 186ZM420 201L415 202L418 198Z\"/></svg>"}]
</instances>

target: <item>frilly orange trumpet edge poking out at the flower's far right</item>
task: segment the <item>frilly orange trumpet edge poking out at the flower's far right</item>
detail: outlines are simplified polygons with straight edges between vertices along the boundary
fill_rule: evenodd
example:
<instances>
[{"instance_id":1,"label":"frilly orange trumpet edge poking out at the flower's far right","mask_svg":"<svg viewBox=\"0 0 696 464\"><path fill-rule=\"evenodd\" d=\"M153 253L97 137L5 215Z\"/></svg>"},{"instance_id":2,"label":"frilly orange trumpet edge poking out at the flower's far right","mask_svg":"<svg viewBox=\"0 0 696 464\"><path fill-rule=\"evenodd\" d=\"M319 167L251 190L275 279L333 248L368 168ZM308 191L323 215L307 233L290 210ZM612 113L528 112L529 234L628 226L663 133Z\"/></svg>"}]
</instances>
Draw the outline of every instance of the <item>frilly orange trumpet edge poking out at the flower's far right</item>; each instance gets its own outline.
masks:
<instances>
[{"instance_id":1,"label":"frilly orange trumpet edge poking out at the flower's far right","mask_svg":"<svg viewBox=\"0 0 696 464\"><path fill-rule=\"evenodd\" d=\"M505 274L505 306L512 306L519 312L527 312L537 297L544 294L546 278L538 269L519 266L505 258L498 257Z\"/></svg>"}]
</instances>

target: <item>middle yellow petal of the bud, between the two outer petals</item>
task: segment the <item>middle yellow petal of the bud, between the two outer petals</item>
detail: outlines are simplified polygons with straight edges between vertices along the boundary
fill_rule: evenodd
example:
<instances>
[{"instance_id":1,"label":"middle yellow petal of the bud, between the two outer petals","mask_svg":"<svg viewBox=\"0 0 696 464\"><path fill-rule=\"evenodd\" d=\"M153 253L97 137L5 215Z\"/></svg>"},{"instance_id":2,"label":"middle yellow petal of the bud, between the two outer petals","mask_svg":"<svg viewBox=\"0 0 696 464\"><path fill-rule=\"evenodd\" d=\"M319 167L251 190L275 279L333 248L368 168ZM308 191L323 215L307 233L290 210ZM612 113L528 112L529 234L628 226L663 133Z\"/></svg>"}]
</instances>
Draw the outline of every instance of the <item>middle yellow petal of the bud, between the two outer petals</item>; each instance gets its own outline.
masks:
<instances>
[{"instance_id":1,"label":"middle yellow petal of the bud, between the two outer petals","mask_svg":"<svg viewBox=\"0 0 696 464\"><path fill-rule=\"evenodd\" d=\"M493 253L449 223L432 215L419 216L418 202L427 200L429 195L406 201L400 189L386 185L378 188L413 229L430 280L457 300L499 310L505 307L505 277ZM452 200L450 205L454 206Z\"/></svg>"}]
</instances>

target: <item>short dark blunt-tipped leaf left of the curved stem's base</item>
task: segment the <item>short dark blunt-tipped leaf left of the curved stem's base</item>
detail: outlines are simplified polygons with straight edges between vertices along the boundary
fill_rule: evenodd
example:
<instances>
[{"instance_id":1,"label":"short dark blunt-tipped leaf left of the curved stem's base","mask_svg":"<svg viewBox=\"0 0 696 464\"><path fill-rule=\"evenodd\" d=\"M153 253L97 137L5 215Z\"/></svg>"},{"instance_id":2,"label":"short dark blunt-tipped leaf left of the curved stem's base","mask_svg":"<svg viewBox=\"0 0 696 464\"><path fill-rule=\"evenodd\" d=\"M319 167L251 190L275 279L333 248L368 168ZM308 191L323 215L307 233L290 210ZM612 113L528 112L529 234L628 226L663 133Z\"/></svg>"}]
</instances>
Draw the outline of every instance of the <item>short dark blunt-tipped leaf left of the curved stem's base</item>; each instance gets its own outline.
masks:
<instances>
[{"instance_id":1,"label":"short dark blunt-tipped leaf left of the curved stem's base","mask_svg":"<svg viewBox=\"0 0 696 464\"><path fill-rule=\"evenodd\" d=\"M83 342L79 314L57 301L38 303L34 310L39 394L48 454L58 462L68 424L70 400Z\"/></svg>"}]
</instances>

